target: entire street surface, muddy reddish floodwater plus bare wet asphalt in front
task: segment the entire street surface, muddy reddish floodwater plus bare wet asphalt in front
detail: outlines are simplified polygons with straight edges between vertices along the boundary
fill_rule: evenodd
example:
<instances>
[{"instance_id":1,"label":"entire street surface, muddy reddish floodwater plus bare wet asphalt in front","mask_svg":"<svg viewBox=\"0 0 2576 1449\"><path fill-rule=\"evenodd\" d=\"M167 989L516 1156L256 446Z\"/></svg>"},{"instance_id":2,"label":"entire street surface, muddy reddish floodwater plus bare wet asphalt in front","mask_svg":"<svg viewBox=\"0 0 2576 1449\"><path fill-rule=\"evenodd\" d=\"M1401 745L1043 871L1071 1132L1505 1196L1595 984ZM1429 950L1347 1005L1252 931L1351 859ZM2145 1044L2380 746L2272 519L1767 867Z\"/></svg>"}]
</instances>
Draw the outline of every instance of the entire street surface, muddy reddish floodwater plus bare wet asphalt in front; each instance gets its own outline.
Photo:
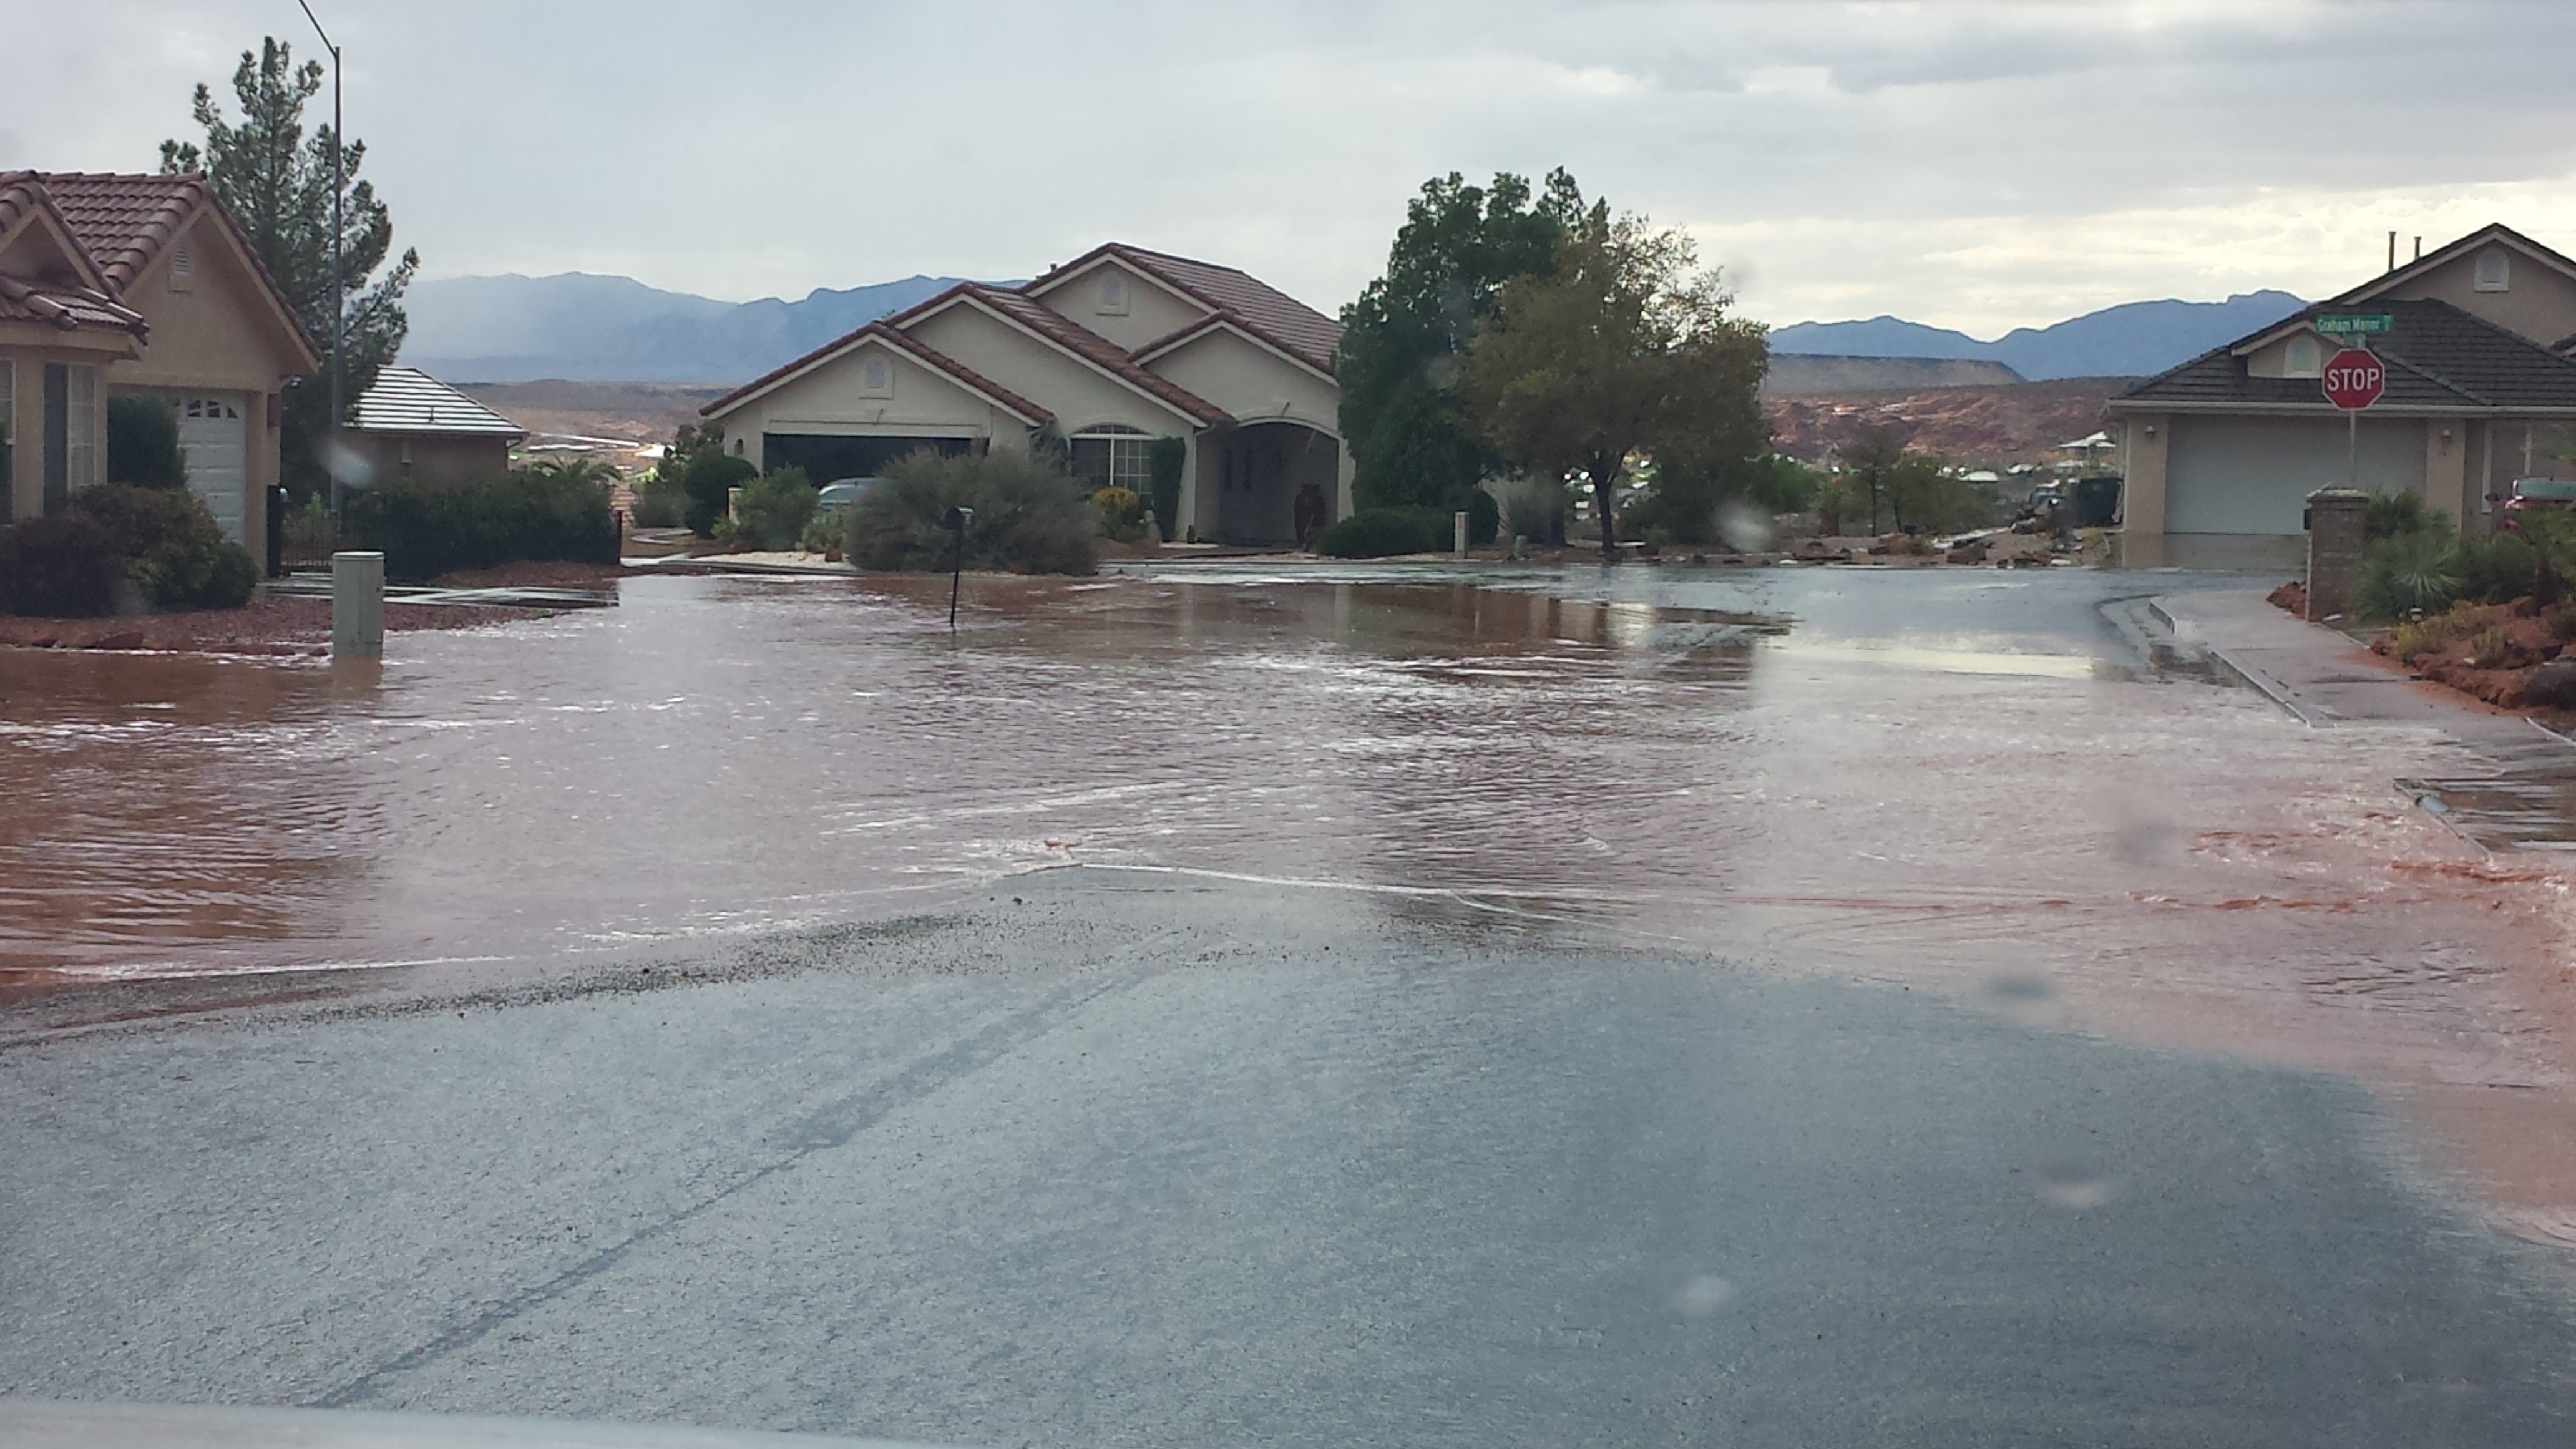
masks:
<instances>
[{"instance_id":1,"label":"entire street surface, muddy reddish floodwater plus bare wet asphalt in front","mask_svg":"<svg viewBox=\"0 0 2576 1449\"><path fill-rule=\"evenodd\" d=\"M945 580L639 578L381 676L0 650L0 1392L2535 1441L2566 856L2398 789L2463 737L2154 632L2241 583L1136 567L951 637Z\"/></svg>"}]
</instances>

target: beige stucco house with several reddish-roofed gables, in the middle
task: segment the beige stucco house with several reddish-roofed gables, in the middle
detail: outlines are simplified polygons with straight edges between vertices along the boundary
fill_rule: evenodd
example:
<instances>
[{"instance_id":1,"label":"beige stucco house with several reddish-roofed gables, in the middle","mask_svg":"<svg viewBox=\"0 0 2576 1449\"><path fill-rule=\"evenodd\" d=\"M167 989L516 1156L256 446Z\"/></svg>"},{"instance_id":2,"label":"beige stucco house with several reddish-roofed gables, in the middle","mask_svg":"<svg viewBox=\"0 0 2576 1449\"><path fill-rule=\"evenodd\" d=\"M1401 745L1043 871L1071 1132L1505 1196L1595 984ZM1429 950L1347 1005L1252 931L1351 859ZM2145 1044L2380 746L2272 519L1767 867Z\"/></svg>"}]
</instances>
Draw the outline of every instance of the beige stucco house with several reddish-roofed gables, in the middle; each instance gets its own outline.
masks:
<instances>
[{"instance_id":1,"label":"beige stucco house with several reddish-roofed gables, in the middle","mask_svg":"<svg viewBox=\"0 0 2576 1449\"><path fill-rule=\"evenodd\" d=\"M1023 286L961 284L706 405L762 472L866 477L914 449L1059 436L1079 474L1144 492L1182 438L1177 536L1296 541L1298 498L1350 513L1342 327L1236 268L1110 242Z\"/></svg>"}]
</instances>

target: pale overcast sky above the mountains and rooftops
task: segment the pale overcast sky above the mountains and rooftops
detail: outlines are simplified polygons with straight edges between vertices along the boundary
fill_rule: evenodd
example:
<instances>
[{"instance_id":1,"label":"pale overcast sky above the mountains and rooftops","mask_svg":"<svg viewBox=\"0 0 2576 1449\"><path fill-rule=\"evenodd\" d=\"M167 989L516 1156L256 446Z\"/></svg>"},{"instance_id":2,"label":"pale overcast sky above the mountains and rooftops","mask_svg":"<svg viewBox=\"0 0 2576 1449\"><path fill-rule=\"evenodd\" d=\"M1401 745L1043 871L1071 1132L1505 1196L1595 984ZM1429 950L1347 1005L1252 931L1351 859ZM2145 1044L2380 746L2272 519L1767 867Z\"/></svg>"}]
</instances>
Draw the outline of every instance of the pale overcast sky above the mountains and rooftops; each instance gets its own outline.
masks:
<instances>
[{"instance_id":1,"label":"pale overcast sky above the mountains and rooftops","mask_svg":"<svg viewBox=\"0 0 2576 1449\"><path fill-rule=\"evenodd\" d=\"M804 297L1115 237L1332 312L1427 175L1551 165L1690 227L1770 322L2321 297L2391 229L2488 219L2576 250L2566 0L314 10L422 276ZM8 0L0 31L0 168L41 170L149 170L193 83L312 39L294 0Z\"/></svg>"}]
</instances>

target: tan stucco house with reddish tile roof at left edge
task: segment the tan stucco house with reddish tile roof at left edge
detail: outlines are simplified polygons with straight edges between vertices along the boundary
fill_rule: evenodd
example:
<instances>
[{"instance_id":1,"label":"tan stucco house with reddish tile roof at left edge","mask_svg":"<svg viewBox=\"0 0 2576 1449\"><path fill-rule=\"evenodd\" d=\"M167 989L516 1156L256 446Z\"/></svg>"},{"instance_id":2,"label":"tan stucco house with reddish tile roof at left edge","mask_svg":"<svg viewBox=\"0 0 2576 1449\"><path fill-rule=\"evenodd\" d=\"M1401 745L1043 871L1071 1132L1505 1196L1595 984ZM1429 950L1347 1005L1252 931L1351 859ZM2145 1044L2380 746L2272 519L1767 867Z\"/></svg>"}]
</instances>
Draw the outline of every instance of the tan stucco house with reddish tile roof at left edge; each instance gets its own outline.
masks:
<instances>
[{"instance_id":1,"label":"tan stucco house with reddish tile roof at left edge","mask_svg":"<svg viewBox=\"0 0 2576 1449\"><path fill-rule=\"evenodd\" d=\"M268 529L278 389L322 366L204 175L0 173L8 516L103 482L108 397L178 413L188 490L227 539Z\"/></svg>"}]
</instances>

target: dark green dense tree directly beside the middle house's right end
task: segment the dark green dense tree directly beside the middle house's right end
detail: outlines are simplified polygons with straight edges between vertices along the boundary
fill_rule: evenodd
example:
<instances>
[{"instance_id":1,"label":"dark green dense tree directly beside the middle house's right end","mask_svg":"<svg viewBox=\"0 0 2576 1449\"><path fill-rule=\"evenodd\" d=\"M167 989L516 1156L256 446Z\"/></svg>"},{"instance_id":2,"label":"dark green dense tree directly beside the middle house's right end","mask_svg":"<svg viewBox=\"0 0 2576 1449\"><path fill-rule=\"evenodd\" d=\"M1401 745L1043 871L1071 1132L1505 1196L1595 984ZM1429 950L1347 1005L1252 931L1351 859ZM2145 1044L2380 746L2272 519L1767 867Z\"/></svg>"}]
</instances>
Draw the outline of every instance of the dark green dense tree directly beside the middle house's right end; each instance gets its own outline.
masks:
<instances>
[{"instance_id":1,"label":"dark green dense tree directly beside the middle house's right end","mask_svg":"<svg viewBox=\"0 0 2576 1449\"><path fill-rule=\"evenodd\" d=\"M1512 276L1546 273L1584 211L1564 170L1540 191L1455 170L1422 183L1386 253L1386 276L1342 309L1342 438L1363 508L1466 508L1497 464L1461 420L1458 356Z\"/></svg>"}]
</instances>

